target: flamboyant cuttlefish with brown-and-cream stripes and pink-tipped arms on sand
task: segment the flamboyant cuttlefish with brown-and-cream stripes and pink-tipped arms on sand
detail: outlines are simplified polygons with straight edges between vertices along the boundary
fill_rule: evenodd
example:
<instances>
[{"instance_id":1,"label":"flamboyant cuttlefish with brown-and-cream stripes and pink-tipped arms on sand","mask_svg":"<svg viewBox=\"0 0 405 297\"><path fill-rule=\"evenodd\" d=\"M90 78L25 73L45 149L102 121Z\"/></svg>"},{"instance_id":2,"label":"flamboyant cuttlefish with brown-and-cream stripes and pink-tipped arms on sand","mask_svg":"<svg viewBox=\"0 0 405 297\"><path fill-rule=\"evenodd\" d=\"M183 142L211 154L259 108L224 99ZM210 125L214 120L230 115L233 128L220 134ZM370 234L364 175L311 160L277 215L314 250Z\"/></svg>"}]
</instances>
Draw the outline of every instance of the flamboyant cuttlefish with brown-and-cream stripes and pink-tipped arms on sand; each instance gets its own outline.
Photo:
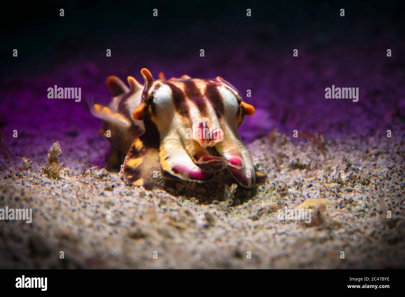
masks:
<instances>
[{"instance_id":1,"label":"flamboyant cuttlefish with brown-and-cream stripes and pink-tipped arms on sand","mask_svg":"<svg viewBox=\"0 0 405 297\"><path fill-rule=\"evenodd\" d=\"M141 70L142 86L128 76L128 88L116 76L107 78L113 94L108 107L95 104L111 144L110 165L123 164L128 184L150 189L167 179L205 182L227 168L240 185L252 187L265 179L253 164L237 128L254 107L242 101L229 82L215 79L153 79Z\"/></svg>"}]
</instances>

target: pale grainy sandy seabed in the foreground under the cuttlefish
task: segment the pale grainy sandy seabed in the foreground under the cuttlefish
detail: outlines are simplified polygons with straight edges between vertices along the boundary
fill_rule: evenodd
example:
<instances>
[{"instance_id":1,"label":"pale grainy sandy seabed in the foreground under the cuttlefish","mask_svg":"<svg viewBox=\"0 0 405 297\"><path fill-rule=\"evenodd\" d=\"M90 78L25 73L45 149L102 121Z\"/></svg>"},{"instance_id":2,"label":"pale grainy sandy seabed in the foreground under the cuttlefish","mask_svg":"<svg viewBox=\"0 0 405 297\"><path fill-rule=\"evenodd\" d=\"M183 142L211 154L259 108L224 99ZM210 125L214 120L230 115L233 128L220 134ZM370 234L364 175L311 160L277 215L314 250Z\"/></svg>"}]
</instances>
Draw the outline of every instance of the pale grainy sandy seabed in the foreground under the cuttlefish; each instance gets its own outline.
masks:
<instances>
[{"instance_id":1,"label":"pale grainy sandy seabed in the foreground under the cuttlefish","mask_svg":"<svg viewBox=\"0 0 405 297\"><path fill-rule=\"evenodd\" d=\"M32 223L0 222L0 267L405 268L405 133L392 131L320 137L326 158L273 131L248 145L268 175L252 190L226 173L167 191L126 185L117 172L85 168L89 147L108 147L96 134L61 141L53 179L48 150L27 143L32 164L0 173L0 208L32 209ZM279 220L278 209L303 202L314 206L311 223Z\"/></svg>"}]
</instances>

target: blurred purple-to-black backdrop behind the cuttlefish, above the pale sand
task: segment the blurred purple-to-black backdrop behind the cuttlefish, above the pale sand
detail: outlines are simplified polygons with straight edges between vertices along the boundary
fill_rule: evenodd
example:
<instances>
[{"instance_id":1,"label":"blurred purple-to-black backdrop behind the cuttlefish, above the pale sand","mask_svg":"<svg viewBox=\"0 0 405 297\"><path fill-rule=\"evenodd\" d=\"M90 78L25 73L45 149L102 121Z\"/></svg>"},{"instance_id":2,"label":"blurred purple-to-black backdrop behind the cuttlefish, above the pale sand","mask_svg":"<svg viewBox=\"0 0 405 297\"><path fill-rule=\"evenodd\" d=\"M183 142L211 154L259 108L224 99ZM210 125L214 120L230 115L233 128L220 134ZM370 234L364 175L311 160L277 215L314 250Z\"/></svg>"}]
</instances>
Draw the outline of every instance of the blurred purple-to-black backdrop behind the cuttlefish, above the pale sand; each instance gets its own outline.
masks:
<instances>
[{"instance_id":1,"label":"blurred purple-to-black backdrop behind the cuttlefish, above the pale sand","mask_svg":"<svg viewBox=\"0 0 405 297\"><path fill-rule=\"evenodd\" d=\"M143 67L154 77L163 71L166 78L228 80L256 107L240 128L245 141L274 128L339 139L404 127L404 17L394 2L39 5L2 12L16 18L2 40L0 81L0 125L16 162L35 158L38 150L45 154L58 140L64 154L76 154L84 168L100 164L108 144L98 135L100 120L91 116L87 99L108 103L105 79L126 81L131 75L143 82ZM339 17L340 8L345 17ZM13 48L18 57L12 57ZM106 57L107 48L112 57ZM81 87L81 102L48 99L47 89L55 84ZM333 84L358 87L359 101L325 99L325 88Z\"/></svg>"}]
</instances>

